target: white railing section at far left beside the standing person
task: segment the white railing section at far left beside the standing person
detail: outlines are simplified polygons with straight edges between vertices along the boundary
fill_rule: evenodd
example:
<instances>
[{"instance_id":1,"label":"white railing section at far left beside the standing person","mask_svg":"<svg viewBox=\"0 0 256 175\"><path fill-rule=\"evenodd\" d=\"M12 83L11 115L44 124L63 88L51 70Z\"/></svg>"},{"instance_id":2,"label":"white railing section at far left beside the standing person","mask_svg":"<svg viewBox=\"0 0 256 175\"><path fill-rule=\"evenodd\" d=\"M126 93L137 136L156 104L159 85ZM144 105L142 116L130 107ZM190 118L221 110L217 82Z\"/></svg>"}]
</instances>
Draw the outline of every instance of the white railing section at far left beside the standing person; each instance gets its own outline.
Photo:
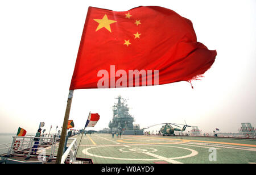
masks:
<instances>
[{"instance_id":1,"label":"white railing section at far left beside the standing person","mask_svg":"<svg viewBox=\"0 0 256 175\"><path fill-rule=\"evenodd\" d=\"M31 136L13 136L13 142L7 156L22 156L30 159L38 158L43 163L54 158L57 140L60 138L40 138Z\"/></svg>"}]
</instances>

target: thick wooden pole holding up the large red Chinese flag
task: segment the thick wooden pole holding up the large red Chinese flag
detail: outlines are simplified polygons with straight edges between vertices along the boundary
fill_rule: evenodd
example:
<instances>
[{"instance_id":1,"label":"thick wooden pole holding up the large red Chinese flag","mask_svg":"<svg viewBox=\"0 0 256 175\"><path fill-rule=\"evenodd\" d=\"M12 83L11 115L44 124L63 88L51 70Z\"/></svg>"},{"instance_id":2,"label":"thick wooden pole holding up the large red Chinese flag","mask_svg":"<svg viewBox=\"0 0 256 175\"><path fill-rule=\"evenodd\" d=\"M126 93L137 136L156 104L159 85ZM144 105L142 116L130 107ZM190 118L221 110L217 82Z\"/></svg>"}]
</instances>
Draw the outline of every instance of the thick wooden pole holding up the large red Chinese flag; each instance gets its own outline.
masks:
<instances>
[{"instance_id":1,"label":"thick wooden pole holding up the large red Chinese flag","mask_svg":"<svg viewBox=\"0 0 256 175\"><path fill-rule=\"evenodd\" d=\"M69 118L69 113L70 113L71 103L72 103L72 98L73 98L73 91L74 90L69 90L69 94L68 94L67 107L66 107L66 112L65 112L65 116L64 116L61 136L60 136L60 143L59 143L59 149L58 149L57 158L56 158L56 164L60 164L61 157L63 155L65 136L66 136L66 131L67 131L67 127L68 127L68 118Z\"/></svg>"}]
</instances>

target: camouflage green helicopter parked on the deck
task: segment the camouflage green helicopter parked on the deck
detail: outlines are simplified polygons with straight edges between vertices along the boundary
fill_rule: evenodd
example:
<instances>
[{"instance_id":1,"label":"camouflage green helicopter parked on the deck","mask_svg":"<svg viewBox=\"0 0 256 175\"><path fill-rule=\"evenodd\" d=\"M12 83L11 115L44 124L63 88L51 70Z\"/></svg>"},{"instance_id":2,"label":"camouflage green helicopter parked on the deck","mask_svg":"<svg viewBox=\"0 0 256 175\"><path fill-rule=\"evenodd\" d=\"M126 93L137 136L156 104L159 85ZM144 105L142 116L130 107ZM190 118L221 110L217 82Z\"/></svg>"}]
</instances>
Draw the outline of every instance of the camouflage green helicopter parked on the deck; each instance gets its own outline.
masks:
<instances>
[{"instance_id":1,"label":"camouflage green helicopter parked on the deck","mask_svg":"<svg viewBox=\"0 0 256 175\"><path fill-rule=\"evenodd\" d=\"M191 127L191 126L188 126L186 121L185 121L185 124L179 124L179 125L183 125L183 128L180 129L180 126L177 126L176 123L159 123L159 124L165 124L164 126L162 126L162 128L160 128L160 132L162 132L163 136L170 136L170 135L174 135L174 131L185 131L185 129L187 127ZM159 125L159 124L154 124L152 126L149 126L149 127L146 127L146 128L143 128L142 130L146 130L147 128L150 128L150 127L153 127L153 126L156 126L156 125ZM174 128L172 127L171 125L174 125L176 127L179 127L179 128Z\"/></svg>"}]
</instances>

